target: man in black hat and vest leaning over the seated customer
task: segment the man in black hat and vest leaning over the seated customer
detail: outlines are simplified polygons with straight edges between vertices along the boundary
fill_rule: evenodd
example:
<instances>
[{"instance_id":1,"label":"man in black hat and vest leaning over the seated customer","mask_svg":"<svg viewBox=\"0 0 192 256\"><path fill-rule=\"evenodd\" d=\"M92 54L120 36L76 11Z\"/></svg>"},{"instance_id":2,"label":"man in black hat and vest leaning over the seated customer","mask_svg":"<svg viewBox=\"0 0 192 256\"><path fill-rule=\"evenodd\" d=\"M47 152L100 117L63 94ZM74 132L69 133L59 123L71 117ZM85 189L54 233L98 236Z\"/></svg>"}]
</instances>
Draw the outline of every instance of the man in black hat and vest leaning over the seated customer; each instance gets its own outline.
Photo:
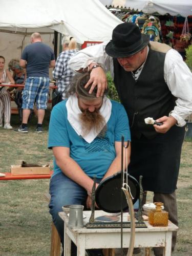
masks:
<instances>
[{"instance_id":1,"label":"man in black hat and vest leaning over the seated customer","mask_svg":"<svg viewBox=\"0 0 192 256\"><path fill-rule=\"evenodd\" d=\"M178 225L176 185L185 118L192 113L192 76L179 53L158 42L149 42L132 23L118 25L110 42L79 51L70 60L78 72L89 70L90 93L107 87L107 71L114 77L121 103L129 116L132 153L129 172L143 176L143 188L163 202L169 220ZM145 124L153 117L162 125ZM153 123L152 123L153 124ZM176 244L173 234L172 250ZM154 248L155 255L163 255Z\"/></svg>"}]
</instances>

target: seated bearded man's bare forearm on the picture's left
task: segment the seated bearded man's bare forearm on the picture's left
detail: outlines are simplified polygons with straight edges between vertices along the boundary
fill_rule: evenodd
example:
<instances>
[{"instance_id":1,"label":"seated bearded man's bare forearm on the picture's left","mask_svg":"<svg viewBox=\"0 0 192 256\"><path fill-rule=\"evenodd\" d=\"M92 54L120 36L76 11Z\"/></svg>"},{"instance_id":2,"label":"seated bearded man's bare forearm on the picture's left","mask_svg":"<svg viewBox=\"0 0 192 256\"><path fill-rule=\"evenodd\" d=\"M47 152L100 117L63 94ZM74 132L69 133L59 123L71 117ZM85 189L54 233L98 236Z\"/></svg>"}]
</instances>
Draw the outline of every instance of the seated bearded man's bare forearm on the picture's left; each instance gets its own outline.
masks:
<instances>
[{"instance_id":1,"label":"seated bearded man's bare forearm on the picture's left","mask_svg":"<svg viewBox=\"0 0 192 256\"><path fill-rule=\"evenodd\" d=\"M67 177L84 187L87 191L92 190L93 180L70 157L69 147L53 147L53 154L57 165Z\"/></svg>"}]
</instances>

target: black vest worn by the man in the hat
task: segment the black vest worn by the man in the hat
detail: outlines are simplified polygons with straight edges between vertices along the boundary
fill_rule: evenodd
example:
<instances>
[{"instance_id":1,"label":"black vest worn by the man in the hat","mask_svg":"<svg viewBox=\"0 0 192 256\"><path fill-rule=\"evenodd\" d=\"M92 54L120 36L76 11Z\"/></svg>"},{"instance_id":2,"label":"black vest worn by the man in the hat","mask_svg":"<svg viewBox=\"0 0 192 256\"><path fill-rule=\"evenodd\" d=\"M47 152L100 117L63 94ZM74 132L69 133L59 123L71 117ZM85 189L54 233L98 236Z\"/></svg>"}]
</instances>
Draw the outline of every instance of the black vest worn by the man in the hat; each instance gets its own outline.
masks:
<instances>
[{"instance_id":1,"label":"black vest worn by the man in the hat","mask_svg":"<svg viewBox=\"0 0 192 256\"><path fill-rule=\"evenodd\" d=\"M174 109L175 97L164 80L165 53L150 49L137 81L131 72L125 71L117 61L114 62L114 83L121 103L129 117L131 134L140 138L154 138L157 133L153 125L145 124L144 118L155 120L168 116Z\"/></svg>"}]
</instances>

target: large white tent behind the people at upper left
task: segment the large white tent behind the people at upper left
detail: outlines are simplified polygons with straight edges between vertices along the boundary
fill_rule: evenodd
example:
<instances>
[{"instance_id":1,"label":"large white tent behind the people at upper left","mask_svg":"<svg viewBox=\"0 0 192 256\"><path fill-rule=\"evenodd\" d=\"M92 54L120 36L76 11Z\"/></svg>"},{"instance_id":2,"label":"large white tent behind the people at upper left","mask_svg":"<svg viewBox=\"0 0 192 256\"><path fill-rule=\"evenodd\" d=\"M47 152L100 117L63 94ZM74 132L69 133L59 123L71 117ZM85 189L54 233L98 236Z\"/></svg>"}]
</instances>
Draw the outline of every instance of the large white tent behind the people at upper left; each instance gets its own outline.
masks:
<instances>
[{"instance_id":1,"label":"large white tent behind the people at upper left","mask_svg":"<svg viewBox=\"0 0 192 256\"><path fill-rule=\"evenodd\" d=\"M0 55L6 67L10 59L19 59L33 32L53 48L54 30L83 44L111 39L120 23L99 0L1 0Z\"/></svg>"}]
</instances>

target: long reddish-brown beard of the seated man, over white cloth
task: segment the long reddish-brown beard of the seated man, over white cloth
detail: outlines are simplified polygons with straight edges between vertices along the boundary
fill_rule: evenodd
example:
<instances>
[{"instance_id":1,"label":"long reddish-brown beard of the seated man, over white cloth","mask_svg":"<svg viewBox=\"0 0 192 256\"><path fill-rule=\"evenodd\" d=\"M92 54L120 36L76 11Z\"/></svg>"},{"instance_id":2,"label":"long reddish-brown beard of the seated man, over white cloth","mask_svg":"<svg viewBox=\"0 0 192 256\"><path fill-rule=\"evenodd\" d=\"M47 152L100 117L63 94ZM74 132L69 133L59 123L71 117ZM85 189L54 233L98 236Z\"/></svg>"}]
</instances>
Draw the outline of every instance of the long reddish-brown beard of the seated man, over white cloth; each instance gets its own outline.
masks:
<instances>
[{"instance_id":1,"label":"long reddish-brown beard of the seated man, over white cloth","mask_svg":"<svg viewBox=\"0 0 192 256\"><path fill-rule=\"evenodd\" d=\"M81 110L82 111L82 110ZM90 112L89 110L83 110L79 115L80 123L83 130L83 136L94 130L98 134L98 137L104 137L106 133L106 122L104 117L99 113L98 110Z\"/></svg>"}]
</instances>

